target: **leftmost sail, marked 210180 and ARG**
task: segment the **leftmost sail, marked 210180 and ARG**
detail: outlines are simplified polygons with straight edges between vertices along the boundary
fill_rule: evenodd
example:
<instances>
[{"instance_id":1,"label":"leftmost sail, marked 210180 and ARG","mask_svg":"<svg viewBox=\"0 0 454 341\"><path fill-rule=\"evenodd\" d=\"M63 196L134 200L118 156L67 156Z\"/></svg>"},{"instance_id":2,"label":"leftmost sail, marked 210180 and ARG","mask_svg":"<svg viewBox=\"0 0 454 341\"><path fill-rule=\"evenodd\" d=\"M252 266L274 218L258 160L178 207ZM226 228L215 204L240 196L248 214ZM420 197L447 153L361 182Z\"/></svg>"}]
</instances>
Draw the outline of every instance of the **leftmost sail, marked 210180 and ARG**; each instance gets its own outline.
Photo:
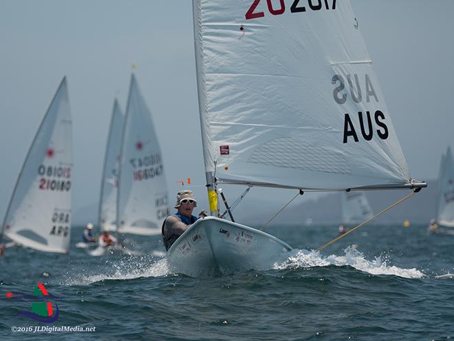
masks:
<instances>
[{"instance_id":1,"label":"leftmost sail, marked 210180 and ARG","mask_svg":"<svg viewBox=\"0 0 454 341\"><path fill-rule=\"evenodd\" d=\"M72 121L63 79L34 137L3 234L39 251L67 253L71 228Z\"/></svg>"}]
</instances>

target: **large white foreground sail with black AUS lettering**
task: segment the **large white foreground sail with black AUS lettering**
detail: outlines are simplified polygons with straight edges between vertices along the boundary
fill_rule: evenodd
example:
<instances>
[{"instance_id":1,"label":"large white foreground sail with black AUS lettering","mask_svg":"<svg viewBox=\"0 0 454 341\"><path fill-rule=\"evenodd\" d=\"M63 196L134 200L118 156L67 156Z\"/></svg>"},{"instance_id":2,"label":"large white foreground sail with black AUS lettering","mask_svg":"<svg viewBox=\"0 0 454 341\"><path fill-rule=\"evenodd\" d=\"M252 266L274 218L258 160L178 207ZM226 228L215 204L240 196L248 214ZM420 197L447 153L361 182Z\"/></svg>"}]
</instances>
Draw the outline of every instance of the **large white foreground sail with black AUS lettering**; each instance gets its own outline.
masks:
<instances>
[{"instance_id":1,"label":"large white foreground sail with black AUS lettering","mask_svg":"<svg viewBox=\"0 0 454 341\"><path fill-rule=\"evenodd\" d=\"M411 187L349 1L290 3L193 0L208 182Z\"/></svg>"}]
</instances>

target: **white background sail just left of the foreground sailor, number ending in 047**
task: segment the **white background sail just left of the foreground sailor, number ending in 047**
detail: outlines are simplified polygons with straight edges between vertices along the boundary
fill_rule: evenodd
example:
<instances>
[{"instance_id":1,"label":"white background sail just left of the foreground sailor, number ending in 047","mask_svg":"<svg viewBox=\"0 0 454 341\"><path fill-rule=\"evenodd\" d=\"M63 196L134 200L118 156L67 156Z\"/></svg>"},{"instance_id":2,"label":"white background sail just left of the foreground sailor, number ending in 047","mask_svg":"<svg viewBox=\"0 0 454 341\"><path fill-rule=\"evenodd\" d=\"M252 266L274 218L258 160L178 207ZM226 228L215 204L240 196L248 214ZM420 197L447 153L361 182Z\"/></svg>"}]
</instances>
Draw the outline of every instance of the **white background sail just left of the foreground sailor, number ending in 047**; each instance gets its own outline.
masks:
<instances>
[{"instance_id":1,"label":"white background sail just left of the foreground sailor, number ending in 047","mask_svg":"<svg viewBox=\"0 0 454 341\"><path fill-rule=\"evenodd\" d=\"M122 136L117 214L119 232L142 235L160 234L169 215L162 153L134 75Z\"/></svg>"}]
</instances>

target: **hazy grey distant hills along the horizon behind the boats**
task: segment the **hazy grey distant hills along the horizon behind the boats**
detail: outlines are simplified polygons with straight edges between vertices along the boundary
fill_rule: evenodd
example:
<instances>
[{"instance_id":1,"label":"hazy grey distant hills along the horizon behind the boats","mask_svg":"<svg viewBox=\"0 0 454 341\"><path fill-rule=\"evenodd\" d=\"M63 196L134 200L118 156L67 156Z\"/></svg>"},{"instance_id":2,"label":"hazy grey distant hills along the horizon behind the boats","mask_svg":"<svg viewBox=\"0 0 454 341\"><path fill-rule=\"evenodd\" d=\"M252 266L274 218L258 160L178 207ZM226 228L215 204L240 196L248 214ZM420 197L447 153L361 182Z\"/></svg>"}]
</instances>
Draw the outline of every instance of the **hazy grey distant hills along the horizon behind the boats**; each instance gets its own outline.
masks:
<instances>
[{"instance_id":1,"label":"hazy grey distant hills along the horizon behind the boats","mask_svg":"<svg viewBox=\"0 0 454 341\"><path fill-rule=\"evenodd\" d=\"M404 220L411 222L425 223L429 222L435 216L435 192L437 190L437 181L429 180L428 187L421 190L412 198L404 203L390 209L385 214L377 218L376 223L400 223ZM378 213L385 209L398 199L409 194L409 190L386 190L386 191L369 191L366 192L369 203ZM304 196L310 196L310 193ZM291 197L291 196L289 196ZM237 222L246 225L256 226L266 223L284 204L276 205L273 198L255 198L254 200L242 203L235 210L234 216ZM202 203L200 207L204 204ZM221 205L222 206L222 205ZM223 206L222 206L223 207ZM224 207L223 207L224 208ZM199 209L199 207L197 207ZM198 210L195 209L195 214ZM340 194L329 193L315 200L306 200L298 205L290 205L285 208L272 223L284 224L301 224L305 223L307 218L311 218L314 224L335 223L340 224ZM73 226L85 226L91 222L95 225L98 220L98 204L92 203L80 207L73 214Z\"/></svg>"}]
</instances>

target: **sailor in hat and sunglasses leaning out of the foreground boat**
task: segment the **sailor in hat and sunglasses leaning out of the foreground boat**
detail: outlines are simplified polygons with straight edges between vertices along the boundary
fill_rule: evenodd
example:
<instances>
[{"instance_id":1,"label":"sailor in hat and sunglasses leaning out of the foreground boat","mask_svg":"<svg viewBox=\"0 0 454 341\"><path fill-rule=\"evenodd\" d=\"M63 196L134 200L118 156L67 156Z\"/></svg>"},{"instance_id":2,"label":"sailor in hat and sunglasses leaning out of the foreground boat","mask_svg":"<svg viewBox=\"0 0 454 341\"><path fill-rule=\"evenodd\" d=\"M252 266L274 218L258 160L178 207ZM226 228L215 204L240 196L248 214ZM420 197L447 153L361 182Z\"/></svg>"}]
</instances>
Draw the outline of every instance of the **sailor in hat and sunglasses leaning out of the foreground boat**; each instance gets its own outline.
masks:
<instances>
[{"instance_id":1,"label":"sailor in hat and sunglasses leaning out of the foreground boat","mask_svg":"<svg viewBox=\"0 0 454 341\"><path fill-rule=\"evenodd\" d=\"M166 251L197 219L208 216L204 209L199 213L198 218L193 215L197 201L193 192L188 189L177 193L177 203L174 207L177 209L177 213L168 216L162 223L162 241Z\"/></svg>"}]
</instances>

